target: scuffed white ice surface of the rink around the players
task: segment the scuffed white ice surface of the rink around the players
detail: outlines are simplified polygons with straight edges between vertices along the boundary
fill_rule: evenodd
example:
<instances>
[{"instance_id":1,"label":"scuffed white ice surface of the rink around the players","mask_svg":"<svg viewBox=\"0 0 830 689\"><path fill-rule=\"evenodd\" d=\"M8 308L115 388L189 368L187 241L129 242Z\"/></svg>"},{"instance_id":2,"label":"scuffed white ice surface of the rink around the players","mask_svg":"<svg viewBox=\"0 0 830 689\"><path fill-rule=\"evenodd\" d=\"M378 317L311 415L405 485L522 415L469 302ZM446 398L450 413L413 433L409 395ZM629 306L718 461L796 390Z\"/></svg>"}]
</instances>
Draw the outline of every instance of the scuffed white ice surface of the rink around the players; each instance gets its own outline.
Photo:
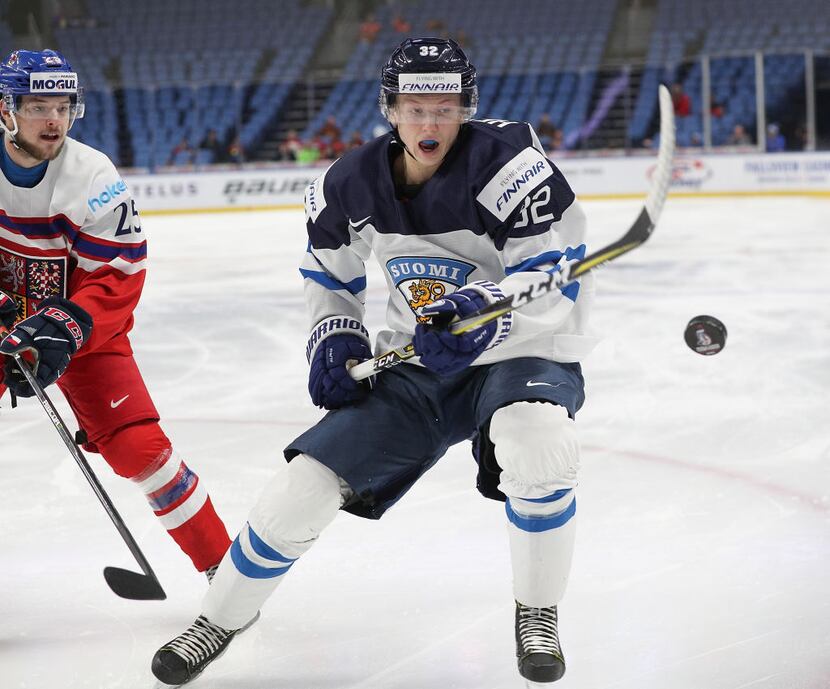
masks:
<instances>
[{"instance_id":1,"label":"scuffed white ice surface of the rink around the players","mask_svg":"<svg viewBox=\"0 0 830 689\"><path fill-rule=\"evenodd\" d=\"M594 246L640 203L587 203ZM144 226L137 358L235 533L321 415L306 393L302 215ZM675 198L645 246L601 271L557 689L830 687L828 233L826 199ZM376 331L377 271L368 302ZM683 342L698 314L729 330L717 356ZM195 618L204 577L89 455L168 593L117 598L101 570L135 562L36 402L3 400L0 448L0 687L154 686L150 659ZM523 687L503 508L474 477L457 446L380 522L340 514L193 686Z\"/></svg>"}]
</instances>

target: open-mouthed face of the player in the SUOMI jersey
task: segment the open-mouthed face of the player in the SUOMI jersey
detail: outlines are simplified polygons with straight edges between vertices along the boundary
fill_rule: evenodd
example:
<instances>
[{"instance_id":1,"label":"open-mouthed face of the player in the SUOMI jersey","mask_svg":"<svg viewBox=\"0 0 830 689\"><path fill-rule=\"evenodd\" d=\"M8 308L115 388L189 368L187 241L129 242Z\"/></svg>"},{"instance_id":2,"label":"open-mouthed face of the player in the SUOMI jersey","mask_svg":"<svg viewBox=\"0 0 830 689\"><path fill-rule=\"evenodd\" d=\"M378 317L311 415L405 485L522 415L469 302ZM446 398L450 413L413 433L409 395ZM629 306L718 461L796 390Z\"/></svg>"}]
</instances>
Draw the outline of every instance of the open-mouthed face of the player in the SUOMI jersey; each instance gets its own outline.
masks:
<instances>
[{"instance_id":1,"label":"open-mouthed face of the player in the SUOMI jersey","mask_svg":"<svg viewBox=\"0 0 830 689\"><path fill-rule=\"evenodd\" d=\"M390 115L415 162L434 172L455 142L465 110L459 94L407 94L397 97Z\"/></svg>"}]
</instances>

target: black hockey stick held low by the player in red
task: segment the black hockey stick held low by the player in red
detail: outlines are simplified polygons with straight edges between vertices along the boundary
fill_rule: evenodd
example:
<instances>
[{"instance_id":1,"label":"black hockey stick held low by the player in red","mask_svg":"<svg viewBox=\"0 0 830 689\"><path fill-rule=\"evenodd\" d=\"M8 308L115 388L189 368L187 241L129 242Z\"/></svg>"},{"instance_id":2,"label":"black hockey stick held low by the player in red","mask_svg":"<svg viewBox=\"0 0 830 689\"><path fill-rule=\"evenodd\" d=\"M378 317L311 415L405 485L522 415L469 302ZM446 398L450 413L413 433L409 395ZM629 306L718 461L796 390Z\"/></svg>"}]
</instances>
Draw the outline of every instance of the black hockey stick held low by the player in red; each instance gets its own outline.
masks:
<instances>
[{"instance_id":1,"label":"black hockey stick held low by the player in red","mask_svg":"<svg viewBox=\"0 0 830 689\"><path fill-rule=\"evenodd\" d=\"M5 334L5 329L0 326L0 339L2 339ZM139 574L138 572L132 572L128 569L121 569L120 567L104 567L104 579L106 579L107 584L112 589L113 593L117 596L121 596L122 598L130 598L132 600L164 600L167 598L167 594L164 592L158 578L150 567L150 563L147 562L147 558L144 557L144 553L141 552L141 549L138 547L138 544L135 542L135 539L129 529L127 529L126 524L124 524L124 520L121 518L121 515L118 514L118 510L116 510L115 506L112 504L109 495L107 495L103 486L101 486L101 483L98 481L98 477L92 471L92 467L89 466L89 463L86 461L86 457L84 457L81 452L81 448L78 447L77 443L72 438L72 435L66 428L66 424L64 424L57 409L55 409L55 405L52 404L52 400L47 397L43 386L38 382L37 378L35 378L32 370L29 368L26 361L24 361L23 357L20 354L14 354L13 356L21 373L23 373L26 381L29 385L31 385L32 390L35 391L35 396L38 398L38 401L46 410L52 424L57 429L61 440L63 440L64 444L69 449L69 453L78 463L84 477L89 482L89 485L92 486L92 490L95 492L98 500L100 500L101 504L104 506L104 509L107 511L107 514L112 520L112 523L115 524L115 528L118 529L118 533L121 534L121 538L124 539L124 542L127 544L127 547L130 549L133 557L135 557L144 572L144 574Z\"/></svg>"}]
</instances>

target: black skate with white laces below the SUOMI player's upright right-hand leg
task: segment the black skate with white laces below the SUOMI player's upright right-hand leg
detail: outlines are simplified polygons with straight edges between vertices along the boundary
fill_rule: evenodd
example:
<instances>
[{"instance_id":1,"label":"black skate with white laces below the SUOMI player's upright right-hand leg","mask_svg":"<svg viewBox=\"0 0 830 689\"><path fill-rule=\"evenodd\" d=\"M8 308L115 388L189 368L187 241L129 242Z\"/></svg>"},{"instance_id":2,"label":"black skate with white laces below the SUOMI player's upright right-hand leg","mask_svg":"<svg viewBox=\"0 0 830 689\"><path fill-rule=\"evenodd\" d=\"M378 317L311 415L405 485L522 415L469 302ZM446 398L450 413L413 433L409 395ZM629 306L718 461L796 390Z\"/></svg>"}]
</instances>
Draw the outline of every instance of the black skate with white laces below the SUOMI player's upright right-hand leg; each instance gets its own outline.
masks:
<instances>
[{"instance_id":1,"label":"black skate with white laces below the SUOMI player's upright right-hand leg","mask_svg":"<svg viewBox=\"0 0 830 689\"><path fill-rule=\"evenodd\" d=\"M516 658L519 674L530 682L555 682L565 674L556 623L555 605L529 608L516 603Z\"/></svg>"}]
</instances>

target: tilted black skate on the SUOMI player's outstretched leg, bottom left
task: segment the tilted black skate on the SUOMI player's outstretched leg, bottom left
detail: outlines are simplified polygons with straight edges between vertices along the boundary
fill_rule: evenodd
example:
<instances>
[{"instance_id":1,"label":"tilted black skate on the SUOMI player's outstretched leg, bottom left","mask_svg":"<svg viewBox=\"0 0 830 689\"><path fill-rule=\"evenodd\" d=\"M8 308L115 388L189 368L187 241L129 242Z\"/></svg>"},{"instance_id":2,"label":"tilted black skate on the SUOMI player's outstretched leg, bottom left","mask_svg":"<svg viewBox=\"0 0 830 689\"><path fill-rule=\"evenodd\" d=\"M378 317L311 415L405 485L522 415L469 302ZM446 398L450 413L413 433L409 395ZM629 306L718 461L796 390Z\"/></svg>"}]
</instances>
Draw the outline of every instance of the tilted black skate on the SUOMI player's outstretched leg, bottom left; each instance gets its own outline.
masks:
<instances>
[{"instance_id":1,"label":"tilted black skate on the SUOMI player's outstretched leg, bottom left","mask_svg":"<svg viewBox=\"0 0 830 689\"><path fill-rule=\"evenodd\" d=\"M153 674L165 684L186 684L225 652L237 631L222 629L200 615L184 632L156 651Z\"/></svg>"}]
</instances>

